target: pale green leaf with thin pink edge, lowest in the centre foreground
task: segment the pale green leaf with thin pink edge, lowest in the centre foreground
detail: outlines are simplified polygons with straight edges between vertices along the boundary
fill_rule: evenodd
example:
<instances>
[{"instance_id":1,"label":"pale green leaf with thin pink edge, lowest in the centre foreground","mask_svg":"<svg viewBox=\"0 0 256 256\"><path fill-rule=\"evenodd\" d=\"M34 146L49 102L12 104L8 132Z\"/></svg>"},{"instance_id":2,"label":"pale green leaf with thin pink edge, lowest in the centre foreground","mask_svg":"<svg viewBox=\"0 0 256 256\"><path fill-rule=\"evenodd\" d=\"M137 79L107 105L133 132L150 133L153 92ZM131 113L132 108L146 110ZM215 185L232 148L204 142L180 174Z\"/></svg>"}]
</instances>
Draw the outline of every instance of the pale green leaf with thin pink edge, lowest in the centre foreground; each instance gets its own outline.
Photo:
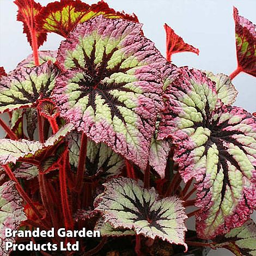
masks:
<instances>
[{"instance_id":1,"label":"pale green leaf with thin pink edge, lowest in the centre foreground","mask_svg":"<svg viewBox=\"0 0 256 256\"><path fill-rule=\"evenodd\" d=\"M95 210L102 212L105 222L114 228L135 230L136 234L170 243L187 245L185 209L176 197L160 199L155 188L147 190L128 178L112 179L97 198Z\"/></svg>"}]
</instances>

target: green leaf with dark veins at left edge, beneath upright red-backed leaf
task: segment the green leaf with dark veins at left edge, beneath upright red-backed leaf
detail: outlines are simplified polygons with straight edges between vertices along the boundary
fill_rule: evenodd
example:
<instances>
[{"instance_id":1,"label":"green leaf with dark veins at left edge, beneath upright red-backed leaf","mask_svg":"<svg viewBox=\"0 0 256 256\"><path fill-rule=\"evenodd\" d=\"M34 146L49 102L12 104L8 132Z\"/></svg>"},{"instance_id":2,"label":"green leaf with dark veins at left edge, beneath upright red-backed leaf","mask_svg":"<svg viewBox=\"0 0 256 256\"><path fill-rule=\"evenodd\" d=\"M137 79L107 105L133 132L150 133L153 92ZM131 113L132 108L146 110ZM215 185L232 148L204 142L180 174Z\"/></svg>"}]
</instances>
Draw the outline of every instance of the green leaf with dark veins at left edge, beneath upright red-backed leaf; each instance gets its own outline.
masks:
<instances>
[{"instance_id":1,"label":"green leaf with dark veins at left edge, beneath upright red-backed leaf","mask_svg":"<svg viewBox=\"0 0 256 256\"><path fill-rule=\"evenodd\" d=\"M37 100L50 96L58 69L51 62L17 69L0 80L0 113L32 107Z\"/></svg>"}]
</instances>

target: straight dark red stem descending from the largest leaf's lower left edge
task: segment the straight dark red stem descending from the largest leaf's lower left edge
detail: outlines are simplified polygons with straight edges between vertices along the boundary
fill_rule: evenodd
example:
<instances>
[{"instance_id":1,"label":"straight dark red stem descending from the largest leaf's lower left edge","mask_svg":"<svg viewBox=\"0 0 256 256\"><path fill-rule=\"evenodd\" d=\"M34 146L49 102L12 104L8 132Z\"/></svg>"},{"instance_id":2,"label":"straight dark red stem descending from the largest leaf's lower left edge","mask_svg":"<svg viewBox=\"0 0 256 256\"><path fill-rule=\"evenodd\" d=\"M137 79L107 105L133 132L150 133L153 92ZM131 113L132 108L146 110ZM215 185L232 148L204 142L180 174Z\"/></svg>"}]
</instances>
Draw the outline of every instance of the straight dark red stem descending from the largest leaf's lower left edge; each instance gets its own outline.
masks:
<instances>
[{"instance_id":1,"label":"straight dark red stem descending from the largest leaf's lower left edge","mask_svg":"<svg viewBox=\"0 0 256 256\"><path fill-rule=\"evenodd\" d=\"M83 175L86 170L86 156L87 156L87 136L86 133L82 133L80 154L77 166L76 185L75 191L80 192L83 185Z\"/></svg>"}]
</instances>

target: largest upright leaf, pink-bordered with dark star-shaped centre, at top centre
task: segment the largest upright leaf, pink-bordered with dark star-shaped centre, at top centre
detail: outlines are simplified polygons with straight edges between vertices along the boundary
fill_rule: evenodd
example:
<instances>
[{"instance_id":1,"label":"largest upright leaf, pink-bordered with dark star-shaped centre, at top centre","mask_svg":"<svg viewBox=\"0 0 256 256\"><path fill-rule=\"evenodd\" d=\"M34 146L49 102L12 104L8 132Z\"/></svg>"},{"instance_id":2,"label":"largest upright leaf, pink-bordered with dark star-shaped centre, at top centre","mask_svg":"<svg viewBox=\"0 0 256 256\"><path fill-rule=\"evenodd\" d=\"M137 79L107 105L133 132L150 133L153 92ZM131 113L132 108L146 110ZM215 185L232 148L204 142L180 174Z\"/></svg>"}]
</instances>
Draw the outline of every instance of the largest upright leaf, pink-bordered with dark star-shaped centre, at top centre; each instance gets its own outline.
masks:
<instances>
[{"instance_id":1,"label":"largest upright leaf, pink-bordered with dark star-shaped centre, at top centre","mask_svg":"<svg viewBox=\"0 0 256 256\"><path fill-rule=\"evenodd\" d=\"M145 168L166 60L141 25L102 16L84 22L62 42L57 60L67 70L53 94L60 115Z\"/></svg>"}]
</instances>

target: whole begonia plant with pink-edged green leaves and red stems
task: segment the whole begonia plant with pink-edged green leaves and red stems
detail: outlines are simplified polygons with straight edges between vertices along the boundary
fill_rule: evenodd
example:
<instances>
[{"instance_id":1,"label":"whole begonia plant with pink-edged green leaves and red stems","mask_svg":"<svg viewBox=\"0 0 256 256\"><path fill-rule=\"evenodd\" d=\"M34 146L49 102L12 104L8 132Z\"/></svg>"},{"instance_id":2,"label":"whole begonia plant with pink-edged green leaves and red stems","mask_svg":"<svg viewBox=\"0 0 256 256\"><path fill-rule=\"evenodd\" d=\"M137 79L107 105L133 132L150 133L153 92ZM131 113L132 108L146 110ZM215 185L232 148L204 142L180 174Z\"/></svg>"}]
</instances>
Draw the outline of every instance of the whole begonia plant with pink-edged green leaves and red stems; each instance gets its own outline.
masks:
<instances>
[{"instance_id":1,"label":"whole begonia plant with pink-edged green leaves and red stems","mask_svg":"<svg viewBox=\"0 0 256 256\"><path fill-rule=\"evenodd\" d=\"M9 242L75 240L78 251L26 255L256 255L256 117L233 106L231 81L256 76L255 25L234 8L228 76L174 65L172 54L199 50L165 24L162 56L135 14L104 1L14 3L33 53L0 68L10 118L0 118L0 255L21 255ZM48 33L63 41L39 51ZM5 228L101 236L21 239Z\"/></svg>"}]
</instances>

